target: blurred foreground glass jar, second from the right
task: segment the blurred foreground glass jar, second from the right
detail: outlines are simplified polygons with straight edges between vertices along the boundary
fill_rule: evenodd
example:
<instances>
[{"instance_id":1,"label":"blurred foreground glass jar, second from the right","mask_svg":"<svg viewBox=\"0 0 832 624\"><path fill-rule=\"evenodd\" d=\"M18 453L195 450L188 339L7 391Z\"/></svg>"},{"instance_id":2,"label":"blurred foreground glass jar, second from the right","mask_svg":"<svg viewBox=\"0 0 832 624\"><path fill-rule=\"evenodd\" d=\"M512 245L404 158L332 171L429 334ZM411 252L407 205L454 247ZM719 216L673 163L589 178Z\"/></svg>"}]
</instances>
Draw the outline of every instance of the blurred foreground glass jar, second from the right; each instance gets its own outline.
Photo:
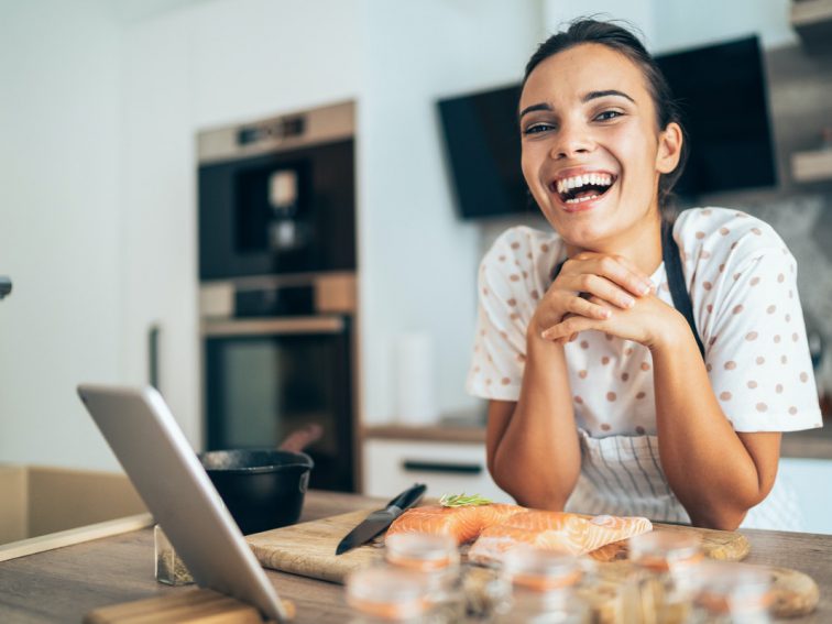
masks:
<instances>
[{"instance_id":1,"label":"blurred foreground glass jar, second from the right","mask_svg":"<svg viewBox=\"0 0 832 624\"><path fill-rule=\"evenodd\" d=\"M630 539L633 571L624 584L625 622L688 622L704 556L701 539L683 533L650 532Z\"/></svg>"}]
</instances>

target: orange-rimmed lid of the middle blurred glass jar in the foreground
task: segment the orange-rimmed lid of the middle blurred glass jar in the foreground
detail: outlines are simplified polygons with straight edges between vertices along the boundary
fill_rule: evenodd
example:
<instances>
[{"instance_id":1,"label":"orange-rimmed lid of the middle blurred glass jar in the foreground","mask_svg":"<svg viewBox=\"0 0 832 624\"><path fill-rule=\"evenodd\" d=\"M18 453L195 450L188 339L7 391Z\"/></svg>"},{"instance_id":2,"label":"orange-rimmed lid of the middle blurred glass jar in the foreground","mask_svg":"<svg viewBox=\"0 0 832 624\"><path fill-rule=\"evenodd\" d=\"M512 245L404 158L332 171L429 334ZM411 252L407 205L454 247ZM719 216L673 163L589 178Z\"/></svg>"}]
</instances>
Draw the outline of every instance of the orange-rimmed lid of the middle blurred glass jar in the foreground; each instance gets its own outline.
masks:
<instances>
[{"instance_id":1,"label":"orange-rimmed lid of the middle blurred glass jar in the foreground","mask_svg":"<svg viewBox=\"0 0 832 624\"><path fill-rule=\"evenodd\" d=\"M502 562L515 587L533 591L547 592L573 587L583 576L577 557L528 546L506 551Z\"/></svg>"}]
</instances>

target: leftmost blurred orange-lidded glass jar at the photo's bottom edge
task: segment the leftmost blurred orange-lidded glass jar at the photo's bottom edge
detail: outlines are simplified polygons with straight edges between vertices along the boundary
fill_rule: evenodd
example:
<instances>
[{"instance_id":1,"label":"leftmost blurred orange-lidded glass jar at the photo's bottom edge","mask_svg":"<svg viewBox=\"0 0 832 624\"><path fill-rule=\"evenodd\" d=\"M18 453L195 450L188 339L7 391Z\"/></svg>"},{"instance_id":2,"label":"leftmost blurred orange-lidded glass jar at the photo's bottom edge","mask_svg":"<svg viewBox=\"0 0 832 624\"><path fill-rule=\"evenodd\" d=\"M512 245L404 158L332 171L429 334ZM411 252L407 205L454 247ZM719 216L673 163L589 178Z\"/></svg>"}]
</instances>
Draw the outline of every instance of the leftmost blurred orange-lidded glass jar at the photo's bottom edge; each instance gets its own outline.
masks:
<instances>
[{"instance_id":1,"label":"leftmost blurred orange-lidded glass jar at the photo's bottom edge","mask_svg":"<svg viewBox=\"0 0 832 624\"><path fill-rule=\"evenodd\" d=\"M429 624L425 577L392 566L371 566L347 577L351 624Z\"/></svg>"}]
</instances>

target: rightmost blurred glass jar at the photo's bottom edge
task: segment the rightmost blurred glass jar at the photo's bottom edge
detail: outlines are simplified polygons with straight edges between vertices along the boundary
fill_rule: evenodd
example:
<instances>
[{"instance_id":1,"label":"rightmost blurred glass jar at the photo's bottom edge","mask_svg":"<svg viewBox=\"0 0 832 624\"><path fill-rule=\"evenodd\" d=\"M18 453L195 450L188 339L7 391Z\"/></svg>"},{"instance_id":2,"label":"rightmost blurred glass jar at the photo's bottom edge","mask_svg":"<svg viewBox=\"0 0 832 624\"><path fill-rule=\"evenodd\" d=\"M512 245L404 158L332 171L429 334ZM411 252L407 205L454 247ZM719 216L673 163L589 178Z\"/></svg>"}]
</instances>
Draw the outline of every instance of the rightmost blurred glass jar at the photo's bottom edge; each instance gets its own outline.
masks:
<instances>
[{"instance_id":1,"label":"rightmost blurred glass jar at the photo's bottom edge","mask_svg":"<svg viewBox=\"0 0 832 624\"><path fill-rule=\"evenodd\" d=\"M771 579L747 563L708 562L694 601L693 624L769 624Z\"/></svg>"}]
</instances>

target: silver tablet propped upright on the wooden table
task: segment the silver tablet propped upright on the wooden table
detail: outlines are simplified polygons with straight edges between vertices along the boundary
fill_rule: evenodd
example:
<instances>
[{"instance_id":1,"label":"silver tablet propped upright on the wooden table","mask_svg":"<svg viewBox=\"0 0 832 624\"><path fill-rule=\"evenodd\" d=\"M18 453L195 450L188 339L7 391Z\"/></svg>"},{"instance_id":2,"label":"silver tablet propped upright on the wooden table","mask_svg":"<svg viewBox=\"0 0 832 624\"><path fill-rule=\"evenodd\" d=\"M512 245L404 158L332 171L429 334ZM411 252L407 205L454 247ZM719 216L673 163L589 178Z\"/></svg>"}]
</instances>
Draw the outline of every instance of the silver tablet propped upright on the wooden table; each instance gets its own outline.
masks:
<instances>
[{"instance_id":1,"label":"silver tablet propped upright on the wooden table","mask_svg":"<svg viewBox=\"0 0 832 624\"><path fill-rule=\"evenodd\" d=\"M86 384L78 395L197 584L285 622L277 592L162 395Z\"/></svg>"}]
</instances>

